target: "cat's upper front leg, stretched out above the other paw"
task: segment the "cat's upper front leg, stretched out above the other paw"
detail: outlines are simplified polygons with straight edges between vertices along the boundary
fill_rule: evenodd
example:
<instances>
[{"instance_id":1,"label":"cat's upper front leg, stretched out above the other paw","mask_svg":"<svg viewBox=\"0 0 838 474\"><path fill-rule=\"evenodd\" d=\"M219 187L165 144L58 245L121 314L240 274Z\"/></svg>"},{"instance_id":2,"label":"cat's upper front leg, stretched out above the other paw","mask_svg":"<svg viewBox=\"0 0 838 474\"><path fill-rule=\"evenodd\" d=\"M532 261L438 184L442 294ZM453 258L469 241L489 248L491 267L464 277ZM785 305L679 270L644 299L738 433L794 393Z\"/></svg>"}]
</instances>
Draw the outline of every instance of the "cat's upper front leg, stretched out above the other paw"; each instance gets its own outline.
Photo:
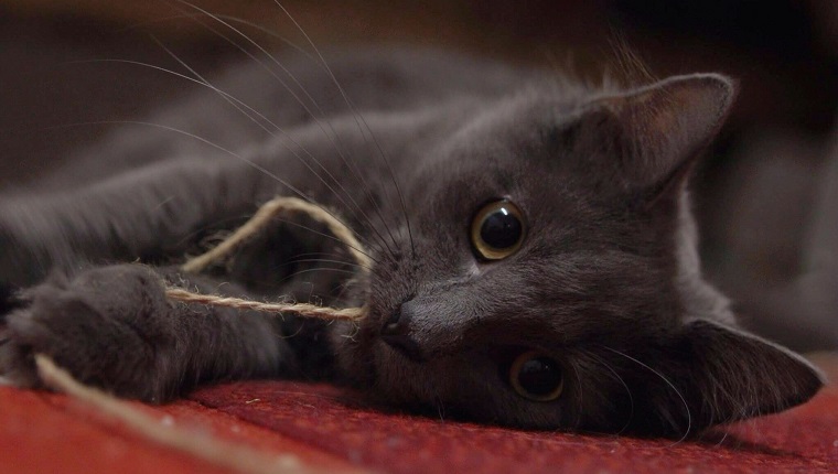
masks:
<instances>
[{"instance_id":1,"label":"cat's upper front leg, stretched out above the other paw","mask_svg":"<svg viewBox=\"0 0 838 474\"><path fill-rule=\"evenodd\" d=\"M201 229L235 225L282 193L238 162L180 160L74 192L3 198L0 284L28 287L79 262L180 256Z\"/></svg>"}]
</instances>

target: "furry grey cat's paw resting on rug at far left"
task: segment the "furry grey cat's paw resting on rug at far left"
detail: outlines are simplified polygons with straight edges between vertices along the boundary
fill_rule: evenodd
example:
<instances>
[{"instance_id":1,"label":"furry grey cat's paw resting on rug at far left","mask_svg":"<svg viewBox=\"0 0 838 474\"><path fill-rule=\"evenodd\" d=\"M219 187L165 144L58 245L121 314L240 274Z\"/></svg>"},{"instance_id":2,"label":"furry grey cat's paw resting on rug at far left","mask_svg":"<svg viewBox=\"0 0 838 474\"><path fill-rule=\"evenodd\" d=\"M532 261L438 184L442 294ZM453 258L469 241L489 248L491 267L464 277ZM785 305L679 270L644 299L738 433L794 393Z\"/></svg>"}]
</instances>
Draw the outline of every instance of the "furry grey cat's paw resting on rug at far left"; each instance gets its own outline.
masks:
<instances>
[{"instance_id":1,"label":"furry grey cat's paw resting on rug at far left","mask_svg":"<svg viewBox=\"0 0 838 474\"><path fill-rule=\"evenodd\" d=\"M176 345L164 289L142 266L95 268L25 291L0 327L0 376L40 387L34 355L117 395L162 401Z\"/></svg>"}]
</instances>

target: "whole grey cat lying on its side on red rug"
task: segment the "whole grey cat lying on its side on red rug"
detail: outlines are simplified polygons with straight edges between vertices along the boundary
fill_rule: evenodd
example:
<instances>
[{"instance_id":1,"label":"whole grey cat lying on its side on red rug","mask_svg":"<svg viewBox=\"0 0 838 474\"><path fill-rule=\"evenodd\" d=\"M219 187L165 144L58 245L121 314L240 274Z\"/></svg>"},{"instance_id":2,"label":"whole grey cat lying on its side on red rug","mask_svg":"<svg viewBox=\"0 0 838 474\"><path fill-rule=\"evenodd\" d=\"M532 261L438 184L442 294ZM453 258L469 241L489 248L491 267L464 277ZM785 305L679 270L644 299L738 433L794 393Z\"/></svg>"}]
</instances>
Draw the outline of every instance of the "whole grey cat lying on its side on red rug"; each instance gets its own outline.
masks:
<instances>
[{"instance_id":1,"label":"whole grey cat lying on its side on red rug","mask_svg":"<svg viewBox=\"0 0 838 474\"><path fill-rule=\"evenodd\" d=\"M664 437L781 411L824 384L739 328L701 276L687 184L733 101L726 76L592 86L378 49L257 62L205 85L6 191L12 383L39 387L43 353L150 402L301 378L483 423ZM276 195L341 216L368 276L304 217L273 222L224 268L179 269ZM184 304L166 284L368 315Z\"/></svg>"}]
</instances>

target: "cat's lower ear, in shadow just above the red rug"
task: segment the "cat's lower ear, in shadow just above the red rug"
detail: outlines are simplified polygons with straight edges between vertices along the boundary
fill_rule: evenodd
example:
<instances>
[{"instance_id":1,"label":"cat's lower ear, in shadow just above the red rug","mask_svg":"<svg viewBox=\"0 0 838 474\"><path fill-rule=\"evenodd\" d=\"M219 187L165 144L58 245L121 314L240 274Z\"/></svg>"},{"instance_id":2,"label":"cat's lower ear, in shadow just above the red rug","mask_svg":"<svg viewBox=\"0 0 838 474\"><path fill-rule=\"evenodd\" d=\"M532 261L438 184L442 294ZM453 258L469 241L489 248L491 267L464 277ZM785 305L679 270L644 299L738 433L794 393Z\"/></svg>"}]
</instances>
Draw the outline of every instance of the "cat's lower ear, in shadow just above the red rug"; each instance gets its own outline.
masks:
<instances>
[{"instance_id":1,"label":"cat's lower ear, in shadow just above the red rug","mask_svg":"<svg viewBox=\"0 0 838 474\"><path fill-rule=\"evenodd\" d=\"M672 385L649 392L646 409L656 411L651 418L670 434L785 410L810 399L825 383L797 354L705 320L687 323L664 359L658 368Z\"/></svg>"}]
</instances>

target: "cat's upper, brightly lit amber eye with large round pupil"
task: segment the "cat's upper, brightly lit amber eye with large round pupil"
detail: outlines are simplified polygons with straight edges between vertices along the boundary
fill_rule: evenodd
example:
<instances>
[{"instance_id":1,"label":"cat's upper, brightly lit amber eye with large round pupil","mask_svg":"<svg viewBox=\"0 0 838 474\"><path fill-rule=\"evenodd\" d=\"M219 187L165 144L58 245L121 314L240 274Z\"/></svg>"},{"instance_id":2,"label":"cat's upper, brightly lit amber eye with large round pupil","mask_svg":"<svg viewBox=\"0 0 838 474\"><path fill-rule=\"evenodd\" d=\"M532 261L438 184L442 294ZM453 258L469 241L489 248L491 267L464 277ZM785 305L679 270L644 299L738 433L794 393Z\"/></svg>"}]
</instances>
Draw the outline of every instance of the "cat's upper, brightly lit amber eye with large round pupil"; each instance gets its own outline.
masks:
<instances>
[{"instance_id":1,"label":"cat's upper, brightly lit amber eye with large round pupil","mask_svg":"<svg viewBox=\"0 0 838 474\"><path fill-rule=\"evenodd\" d=\"M524 241L524 216L518 206L507 200L486 204L472 220L472 246L486 260L515 254Z\"/></svg>"}]
</instances>

